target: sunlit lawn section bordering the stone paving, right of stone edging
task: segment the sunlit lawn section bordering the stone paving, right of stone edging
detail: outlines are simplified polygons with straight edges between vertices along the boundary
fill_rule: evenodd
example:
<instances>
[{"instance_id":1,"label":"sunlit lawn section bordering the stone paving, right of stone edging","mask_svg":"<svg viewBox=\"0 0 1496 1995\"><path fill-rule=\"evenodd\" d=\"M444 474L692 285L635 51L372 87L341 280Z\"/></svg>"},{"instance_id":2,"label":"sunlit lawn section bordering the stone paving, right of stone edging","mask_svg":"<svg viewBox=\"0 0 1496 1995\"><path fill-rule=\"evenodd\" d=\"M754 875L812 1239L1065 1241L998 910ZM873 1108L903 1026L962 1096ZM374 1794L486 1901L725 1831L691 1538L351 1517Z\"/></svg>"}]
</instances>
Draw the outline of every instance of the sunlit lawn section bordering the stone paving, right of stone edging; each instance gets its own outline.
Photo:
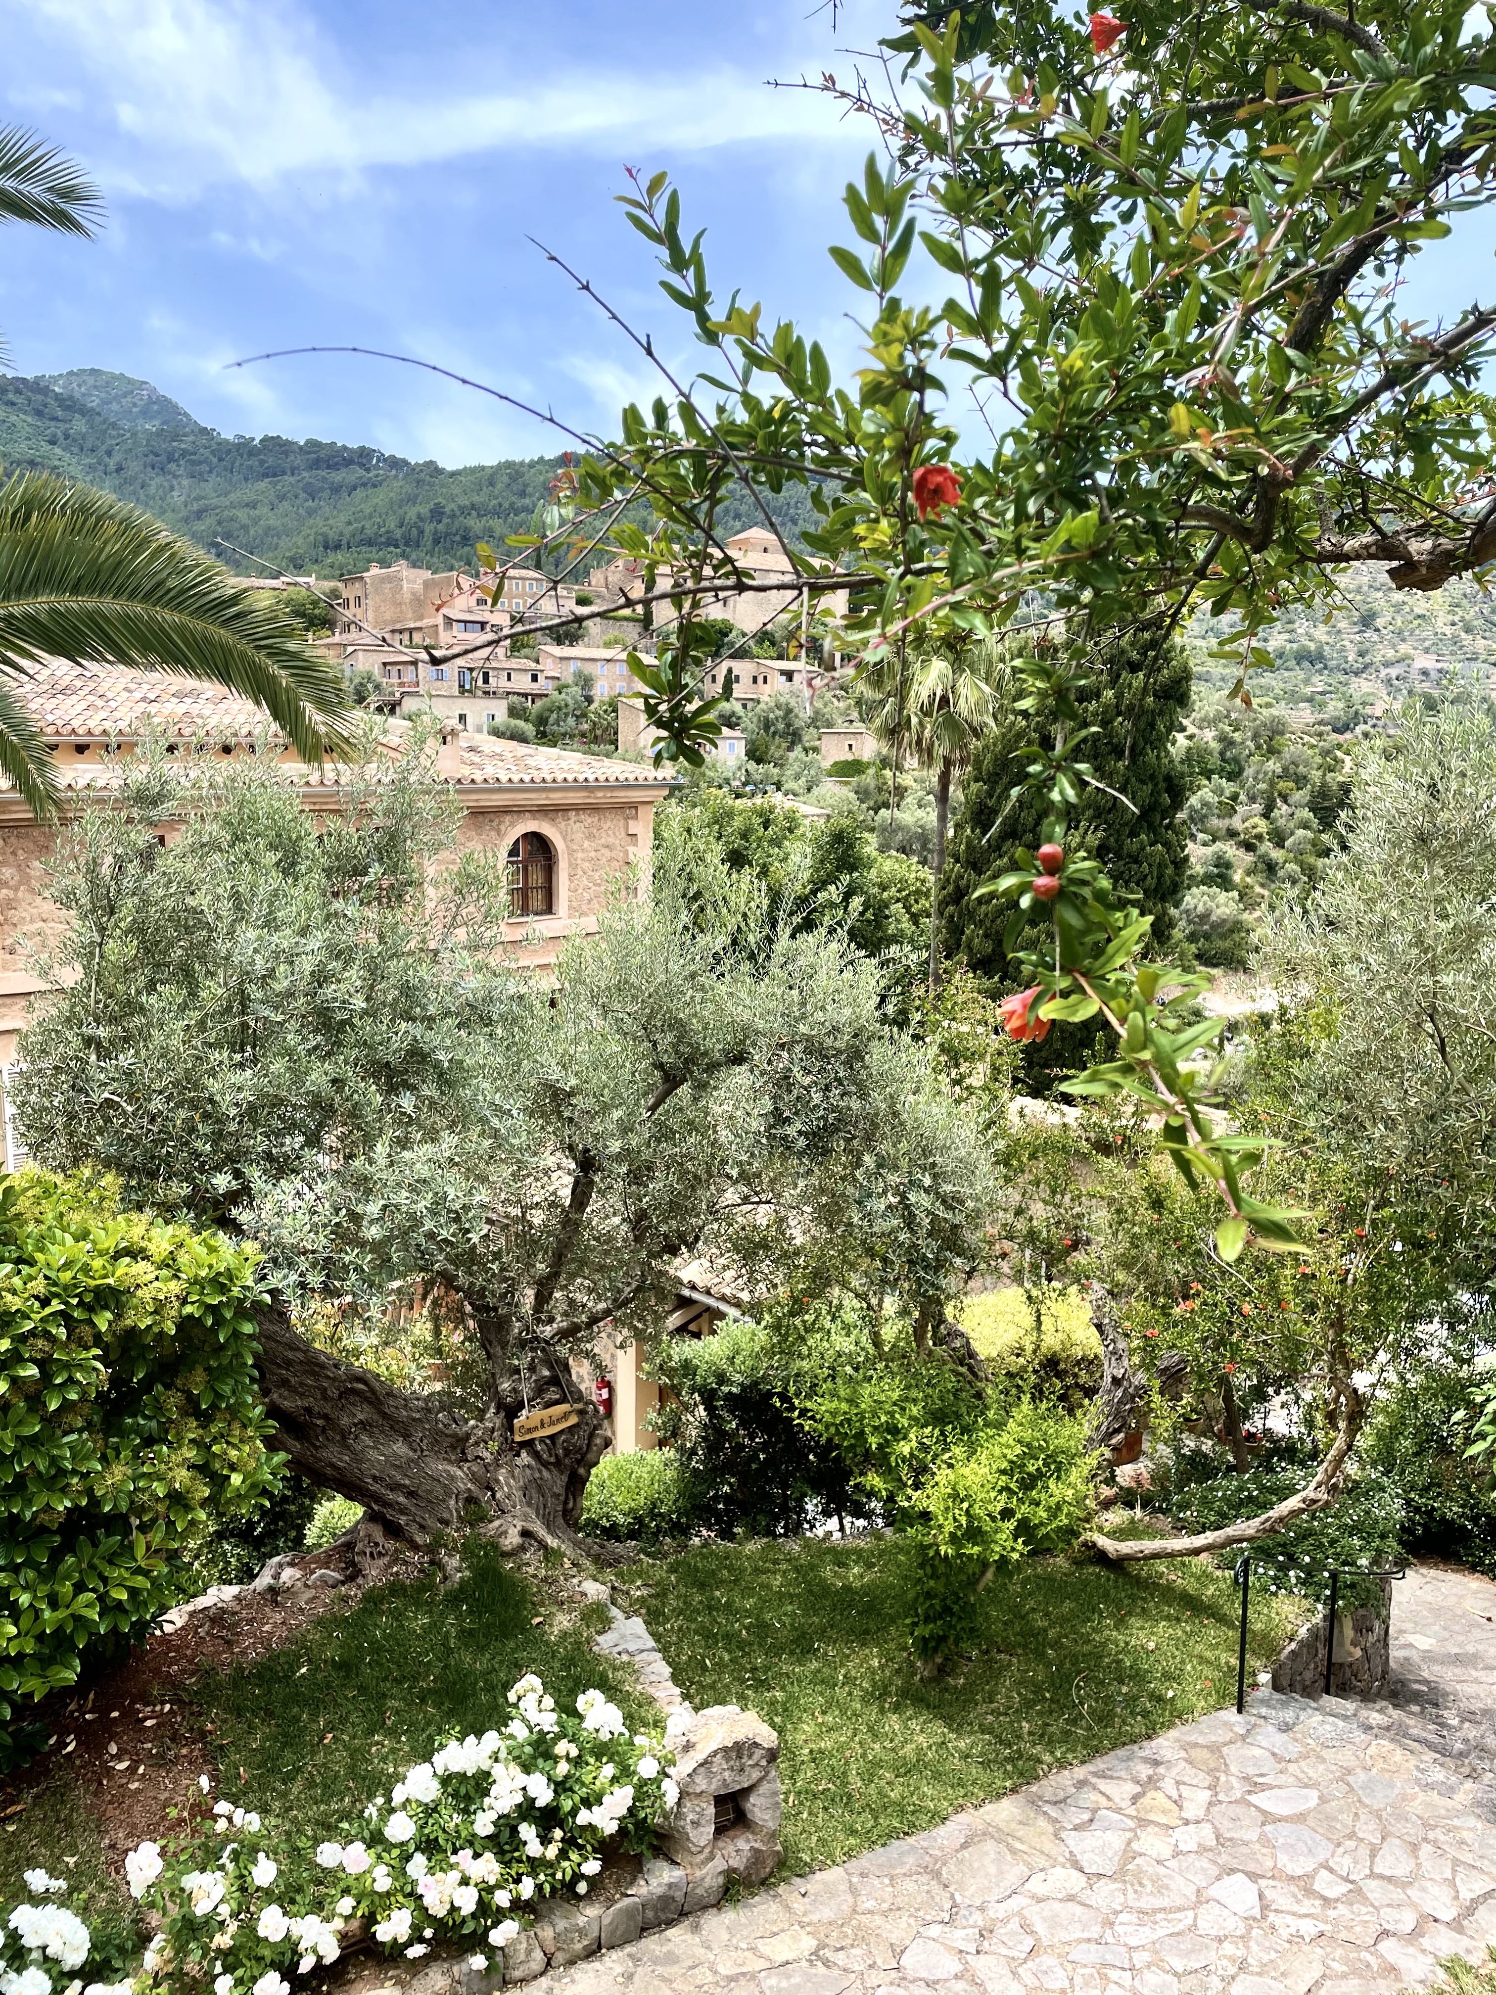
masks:
<instances>
[{"instance_id":1,"label":"sunlit lawn section bordering the stone paving, right of stone edging","mask_svg":"<svg viewBox=\"0 0 1496 1995\"><path fill-rule=\"evenodd\" d=\"M780 1734L794 1871L1235 1704L1241 1596L1215 1566L1025 1560L981 1596L971 1664L922 1682L908 1556L896 1538L760 1540L630 1572L630 1604L690 1702L742 1704ZM1249 1672L1301 1616L1253 1596Z\"/></svg>"}]
</instances>

